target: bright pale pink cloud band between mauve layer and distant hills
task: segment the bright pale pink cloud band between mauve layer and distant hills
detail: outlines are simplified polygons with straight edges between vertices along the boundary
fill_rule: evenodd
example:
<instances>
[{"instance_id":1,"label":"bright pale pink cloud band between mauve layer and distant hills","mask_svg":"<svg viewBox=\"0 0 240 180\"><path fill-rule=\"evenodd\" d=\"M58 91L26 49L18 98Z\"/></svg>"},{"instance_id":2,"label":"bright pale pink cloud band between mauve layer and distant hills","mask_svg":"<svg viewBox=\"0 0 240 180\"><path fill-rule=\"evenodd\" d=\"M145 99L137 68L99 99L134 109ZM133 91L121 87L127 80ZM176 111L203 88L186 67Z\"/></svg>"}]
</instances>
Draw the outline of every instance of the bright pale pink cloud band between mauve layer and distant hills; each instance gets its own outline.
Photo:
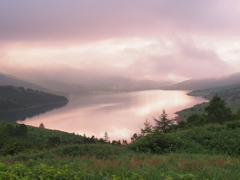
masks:
<instances>
[{"instance_id":1,"label":"bright pale pink cloud band between mauve layer and distant hills","mask_svg":"<svg viewBox=\"0 0 240 180\"><path fill-rule=\"evenodd\" d=\"M102 42L85 49L80 46L65 51L64 48L13 51L15 54L9 53L11 56L6 60L13 59L5 61L0 70L24 78L85 84L114 76L162 80L169 76L215 77L236 71L214 49L200 46L191 38L134 39L128 42L115 40L108 41L109 44ZM36 57L36 62L31 61Z\"/></svg>"}]
</instances>

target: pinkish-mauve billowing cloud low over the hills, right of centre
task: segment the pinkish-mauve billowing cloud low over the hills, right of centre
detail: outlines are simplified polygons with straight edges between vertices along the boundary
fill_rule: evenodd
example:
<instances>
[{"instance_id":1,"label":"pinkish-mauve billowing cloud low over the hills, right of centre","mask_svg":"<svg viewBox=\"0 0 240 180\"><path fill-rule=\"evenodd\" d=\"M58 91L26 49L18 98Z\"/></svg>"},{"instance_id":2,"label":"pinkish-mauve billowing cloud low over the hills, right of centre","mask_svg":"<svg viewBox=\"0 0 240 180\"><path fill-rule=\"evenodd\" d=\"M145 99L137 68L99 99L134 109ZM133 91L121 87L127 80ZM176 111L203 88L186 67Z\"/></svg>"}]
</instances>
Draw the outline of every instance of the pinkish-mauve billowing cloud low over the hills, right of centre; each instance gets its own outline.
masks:
<instances>
[{"instance_id":1,"label":"pinkish-mauve billowing cloud low over the hills, right of centre","mask_svg":"<svg viewBox=\"0 0 240 180\"><path fill-rule=\"evenodd\" d=\"M167 76L174 74L185 78L222 76L232 68L212 50L197 48L193 42L177 42L178 50L169 55L155 55L141 59L132 70L141 75Z\"/></svg>"}]
</instances>

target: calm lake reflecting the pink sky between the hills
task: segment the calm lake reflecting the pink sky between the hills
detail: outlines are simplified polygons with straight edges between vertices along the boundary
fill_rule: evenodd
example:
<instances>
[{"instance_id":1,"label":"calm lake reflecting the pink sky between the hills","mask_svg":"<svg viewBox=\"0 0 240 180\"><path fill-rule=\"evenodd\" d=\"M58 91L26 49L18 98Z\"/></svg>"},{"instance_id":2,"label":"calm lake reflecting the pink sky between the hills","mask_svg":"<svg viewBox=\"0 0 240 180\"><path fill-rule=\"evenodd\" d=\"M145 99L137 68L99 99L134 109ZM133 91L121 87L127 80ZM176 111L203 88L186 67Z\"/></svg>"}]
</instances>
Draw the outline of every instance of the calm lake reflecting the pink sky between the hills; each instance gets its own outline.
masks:
<instances>
[{"instance_id":1,"label":"calm lake reflecting the pink sky between the hills","mask_svg":"<svg viewBox=\"0 0 240 180\"><path fill-rule=\"evenodd\" d=\"M143 122L154 123L165 109L169 118L176 111L206 102L203 98L186 95L186 91L139 91L121 94L72 95L69 103L59 109L33 116L18 123L48 129L74 132L101 138L107 131L110 140L127 139L140 133Z\"/></svg>"}]
</instances>

